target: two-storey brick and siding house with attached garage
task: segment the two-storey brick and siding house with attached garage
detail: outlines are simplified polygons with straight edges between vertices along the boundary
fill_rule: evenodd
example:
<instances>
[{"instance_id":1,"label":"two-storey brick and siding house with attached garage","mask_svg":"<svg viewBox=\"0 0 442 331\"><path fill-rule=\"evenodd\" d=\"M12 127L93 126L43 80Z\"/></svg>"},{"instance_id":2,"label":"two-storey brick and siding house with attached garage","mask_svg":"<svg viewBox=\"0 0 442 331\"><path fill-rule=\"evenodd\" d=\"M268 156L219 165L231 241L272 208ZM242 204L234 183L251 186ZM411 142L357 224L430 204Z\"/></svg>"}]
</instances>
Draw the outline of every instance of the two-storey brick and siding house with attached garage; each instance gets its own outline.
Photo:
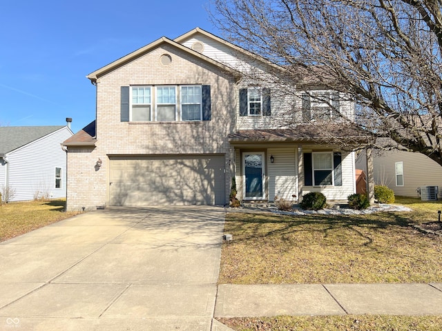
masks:
<instances>
[{"instance_id":1,"label":"two-storey brick and siding house with attached garage","mask_svg":"<svg viewBox=\"0 0 442 331\"><path fill-rule=\"evenodd\" d=\"M92 72L96 119L64 142L68 209L223 205L233 176L242 201L296 202L311 191L347 201L356 192L354 152L320 143L320 126L302 121L329 123L330 103L352 117L353 103L320 86L314 93L326 100L311 99L299 86L299 126L282 126L290 97L261 79L278 70L195 28Z\"/></svg>"}]
</instances>

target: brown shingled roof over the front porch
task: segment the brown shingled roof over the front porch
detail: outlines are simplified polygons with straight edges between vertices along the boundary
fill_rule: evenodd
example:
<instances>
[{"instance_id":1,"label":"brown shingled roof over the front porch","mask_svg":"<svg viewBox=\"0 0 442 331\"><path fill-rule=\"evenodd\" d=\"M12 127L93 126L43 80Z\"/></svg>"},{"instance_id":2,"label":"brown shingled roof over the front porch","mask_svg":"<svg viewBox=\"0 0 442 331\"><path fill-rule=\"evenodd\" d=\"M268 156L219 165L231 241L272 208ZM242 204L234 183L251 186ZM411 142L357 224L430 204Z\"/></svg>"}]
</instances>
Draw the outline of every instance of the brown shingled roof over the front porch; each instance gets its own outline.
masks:
<instances>
[{"instance_id":1,"label":"brown shingled roof over the front porch","mask_svg":"<svg viewBox=\"0 0 442 331\"><path fill-rule=\"evenodd\" d=\"M323 126L326 128L323 128ZM363 141L367 137L356 128L331 126L328 124L302 124L293 129L239 130L229 134L231 143L264 143L306 141L314 143L336 143L341 141Z\"/></svg>"}]
</instances>

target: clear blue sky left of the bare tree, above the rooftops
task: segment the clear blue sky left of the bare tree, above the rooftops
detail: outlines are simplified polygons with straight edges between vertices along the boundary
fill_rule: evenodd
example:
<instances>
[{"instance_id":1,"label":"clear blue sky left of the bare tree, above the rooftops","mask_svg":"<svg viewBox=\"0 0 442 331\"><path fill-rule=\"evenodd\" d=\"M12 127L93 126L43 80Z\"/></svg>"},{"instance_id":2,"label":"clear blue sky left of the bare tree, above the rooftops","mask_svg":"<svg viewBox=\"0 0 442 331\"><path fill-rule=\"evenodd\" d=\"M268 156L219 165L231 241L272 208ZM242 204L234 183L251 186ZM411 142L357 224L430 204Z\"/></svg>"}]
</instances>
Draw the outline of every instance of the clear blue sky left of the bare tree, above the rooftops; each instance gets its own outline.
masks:
<instances>
[{"instance_id":1,"label":"clear blue sky left of the bare tree, above the rooftops","mask_svg":"<svg viewBox=\"0 0 442 331\"><path fill-rule=\"evenodd\" d=\"M197 26L218 34L207 8L209 0L2 1L0 125L72 117L77 132L95 119L87 74L162 36Z\"/></svg>"}]
</instances>

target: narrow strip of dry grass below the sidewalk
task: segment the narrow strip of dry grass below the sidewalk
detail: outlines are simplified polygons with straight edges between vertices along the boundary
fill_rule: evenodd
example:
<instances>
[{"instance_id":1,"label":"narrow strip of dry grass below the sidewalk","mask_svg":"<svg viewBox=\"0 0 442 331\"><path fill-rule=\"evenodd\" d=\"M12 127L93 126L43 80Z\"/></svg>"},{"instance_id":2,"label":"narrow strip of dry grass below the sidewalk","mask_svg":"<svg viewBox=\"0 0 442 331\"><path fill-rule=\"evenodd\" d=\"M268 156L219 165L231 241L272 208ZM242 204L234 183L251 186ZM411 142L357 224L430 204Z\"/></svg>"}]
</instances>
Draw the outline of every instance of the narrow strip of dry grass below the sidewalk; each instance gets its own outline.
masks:
<instances>
[{"instance_id":1,"label":"narrow strip of dry grass below the sidewalk","mask_svg":"<svg viewBox=\"0 0 442 331\"><path fill-rule=\"evenodd\" d=\"M441 316L346 315L220 319L237 331L439 331Z\"/></svg>"}]
</instances>

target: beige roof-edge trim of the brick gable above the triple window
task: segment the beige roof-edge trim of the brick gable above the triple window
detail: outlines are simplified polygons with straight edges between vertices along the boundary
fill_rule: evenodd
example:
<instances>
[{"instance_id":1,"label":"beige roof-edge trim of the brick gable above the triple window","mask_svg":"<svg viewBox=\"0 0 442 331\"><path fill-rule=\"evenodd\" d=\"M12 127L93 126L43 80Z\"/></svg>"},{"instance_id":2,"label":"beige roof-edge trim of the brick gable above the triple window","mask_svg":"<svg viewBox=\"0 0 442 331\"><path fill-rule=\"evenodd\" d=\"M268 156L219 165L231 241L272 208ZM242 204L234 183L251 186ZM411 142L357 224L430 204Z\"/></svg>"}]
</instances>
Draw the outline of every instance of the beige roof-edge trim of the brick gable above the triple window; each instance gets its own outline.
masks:
<instances>
[{"instance_id":1,"label":"beige roof-edge trim of the brick gable above the triple window","mask_svg":"<svg viewBox=\"0 0 442 331\"><path fill-rule=\"evenodd\" d=\"M156 41L153 41L152 43L149 43L148 45L139 48L138 50L135 50L134 52L131 52L127 54L124 57L121 57L117 59L116 61L113 61L112 63L109 63L107 66L104 66L102 68L99 68L98 70L95 70L94 72L91 72L86 77L90 79L90 81L95 82L97 79L104 74L107 74L108 72L111 72L121 66L124 66L126 63L129 63L133 61L134 59L137 59L138 57L141 57L142 55L151 52L151 50L163 45L168 44L170 46L173 46L175 48L178 48L184 52L187 52L194 57L198 57L202 59L203 61L209 62L213 64L214 66L218 66L219 68L222 68L222 70L226 70L227 72L231 72L232 74L239 76L239 72L237 70L234 70L233 68L230 68L229 66L225 66L224 64L215 61L211 59L210 57L206 57L203 54L200 54L198 52L195 52L195 50L191 50L190 48L187 48L186 46L182 46L180 43L177 43L176 41L173 41L167 37L161 37L160 39L157 39Z\"/></svg>"}]
</instances>

